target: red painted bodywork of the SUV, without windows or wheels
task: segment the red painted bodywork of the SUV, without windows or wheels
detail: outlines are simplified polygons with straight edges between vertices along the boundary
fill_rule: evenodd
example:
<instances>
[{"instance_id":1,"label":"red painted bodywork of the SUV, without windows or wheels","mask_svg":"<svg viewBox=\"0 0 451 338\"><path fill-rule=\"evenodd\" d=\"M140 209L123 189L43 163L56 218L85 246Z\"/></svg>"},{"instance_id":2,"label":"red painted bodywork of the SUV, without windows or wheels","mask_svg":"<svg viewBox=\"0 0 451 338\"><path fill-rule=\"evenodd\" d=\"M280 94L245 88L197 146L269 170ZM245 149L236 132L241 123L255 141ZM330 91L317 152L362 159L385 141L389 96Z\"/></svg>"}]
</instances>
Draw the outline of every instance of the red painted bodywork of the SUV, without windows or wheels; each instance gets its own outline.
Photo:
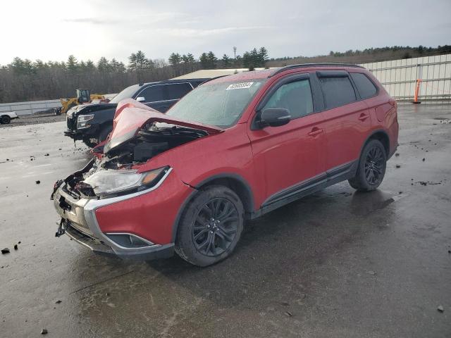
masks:
<instances>
[{"instance_id":1,"label":"red painted bodywork of the SUV, without windows or wheels","mask_svg":"<svg viewBox=\"0 0 451 338\"><path fill-rule=\"evenodd\" d=\"M251 130L257 105L281 78L321 69L366 73L378 87L378 95L297 118L281 127ZM266 78L273 72L240 73L203 85L252 81ZM121 127L123 132L129 130L127 128L147 123L149 118L155 118L161 122L185 123L185 126L191 127L195 125L210 133L209 136L165 151L147 163L135 166L140 173L171 166L173 171L158 189L96 211L103 232L130 232L157 244L173 241L173 225L184 201L195 191L192 187L211 177L230 174L242 177L252 191L254 211L257 211L271 195L357 160L364 142L376 130L383 130L390 137L390 152L397 146L396 103L371 73L360 68L328 66L290 69L269 77L238 123L226 130L205 125L199 127L199 124L194 123L188 125L181 120L177 123L177 119L165 118L163 114L149 111L147 106L144 109L139 104L133 105L125 102L118 107L118 119L125 110L130 110L130 118L131 113L137 113L130 125ZM113 131L112 137L119 131Z\"/></svg>"}]
</instances>

